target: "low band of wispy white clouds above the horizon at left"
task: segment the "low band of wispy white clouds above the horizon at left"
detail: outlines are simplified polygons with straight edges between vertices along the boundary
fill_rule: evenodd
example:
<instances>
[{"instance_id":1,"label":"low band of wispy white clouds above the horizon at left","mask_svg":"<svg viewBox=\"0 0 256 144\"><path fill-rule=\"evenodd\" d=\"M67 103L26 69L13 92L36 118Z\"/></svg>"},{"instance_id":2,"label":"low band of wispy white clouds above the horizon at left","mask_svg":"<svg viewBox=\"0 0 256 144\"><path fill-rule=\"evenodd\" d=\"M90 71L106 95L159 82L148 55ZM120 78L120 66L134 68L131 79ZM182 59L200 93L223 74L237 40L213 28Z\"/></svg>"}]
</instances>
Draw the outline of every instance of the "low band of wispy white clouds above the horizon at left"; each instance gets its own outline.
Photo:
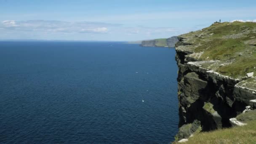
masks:
<instances>
[{"instance_id":1,"label":"low band of wispy white clouds above the horizon at left","mask_svg":"<svg viewBox=\"0 0 256 144\"><path fill-rule=\"evenodd\" d=\"M43 32L64 32L64 33L107 33L107 27L119 27L121 24L108 24L101 22L67 22L67 21L14 21L5 20L0 28L16 31L43 31Z\"/></svg>"}]
</instances>

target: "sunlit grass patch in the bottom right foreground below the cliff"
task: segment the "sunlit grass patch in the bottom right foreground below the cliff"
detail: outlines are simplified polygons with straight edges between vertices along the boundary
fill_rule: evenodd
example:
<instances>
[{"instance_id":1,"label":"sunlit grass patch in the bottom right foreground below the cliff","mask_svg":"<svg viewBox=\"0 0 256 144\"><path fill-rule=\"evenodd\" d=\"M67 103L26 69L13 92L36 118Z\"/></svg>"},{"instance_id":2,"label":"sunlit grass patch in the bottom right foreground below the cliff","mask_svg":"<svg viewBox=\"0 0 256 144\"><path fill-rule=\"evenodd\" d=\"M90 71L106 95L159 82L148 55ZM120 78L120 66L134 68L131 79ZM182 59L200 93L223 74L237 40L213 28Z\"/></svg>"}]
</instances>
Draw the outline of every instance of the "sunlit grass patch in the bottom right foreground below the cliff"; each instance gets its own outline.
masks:
<instances>
[{"instance_id":1,"label":"sunlit grass patch in the bottom right foreground below the cliff","mask_svg":"<svg viewBox=\"0 0 256 144\"><path fill-rule=\"evenodd\" d=\"M238 115L237 120L247 125L195 133L183 144L256 144L256 110Z\"/></svg>"}]
</instances>

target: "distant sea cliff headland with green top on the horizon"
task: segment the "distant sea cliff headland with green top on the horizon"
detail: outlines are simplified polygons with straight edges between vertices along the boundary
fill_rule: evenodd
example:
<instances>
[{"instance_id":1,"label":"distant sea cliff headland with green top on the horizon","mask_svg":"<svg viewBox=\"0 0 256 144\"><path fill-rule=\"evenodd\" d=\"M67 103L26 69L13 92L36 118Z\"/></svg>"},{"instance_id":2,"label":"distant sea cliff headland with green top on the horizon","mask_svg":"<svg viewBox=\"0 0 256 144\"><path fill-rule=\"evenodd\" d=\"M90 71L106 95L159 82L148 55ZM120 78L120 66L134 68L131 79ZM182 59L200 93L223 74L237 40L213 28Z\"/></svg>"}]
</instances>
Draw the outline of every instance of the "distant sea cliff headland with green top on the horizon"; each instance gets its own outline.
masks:
<instances>
[{"instance_id":1,"label":"distant sea cliff headland with green top on the horizon","mask_svg":"<svg viewBox=\"0 0 256 144\"><path fill-rule=\"evenodd\" d=\"M155 40L143 40L141 46L143 47L174 47L175 43L178 42L176 36L170 38L161 38Z\"/></svg>"}]
</instances>

